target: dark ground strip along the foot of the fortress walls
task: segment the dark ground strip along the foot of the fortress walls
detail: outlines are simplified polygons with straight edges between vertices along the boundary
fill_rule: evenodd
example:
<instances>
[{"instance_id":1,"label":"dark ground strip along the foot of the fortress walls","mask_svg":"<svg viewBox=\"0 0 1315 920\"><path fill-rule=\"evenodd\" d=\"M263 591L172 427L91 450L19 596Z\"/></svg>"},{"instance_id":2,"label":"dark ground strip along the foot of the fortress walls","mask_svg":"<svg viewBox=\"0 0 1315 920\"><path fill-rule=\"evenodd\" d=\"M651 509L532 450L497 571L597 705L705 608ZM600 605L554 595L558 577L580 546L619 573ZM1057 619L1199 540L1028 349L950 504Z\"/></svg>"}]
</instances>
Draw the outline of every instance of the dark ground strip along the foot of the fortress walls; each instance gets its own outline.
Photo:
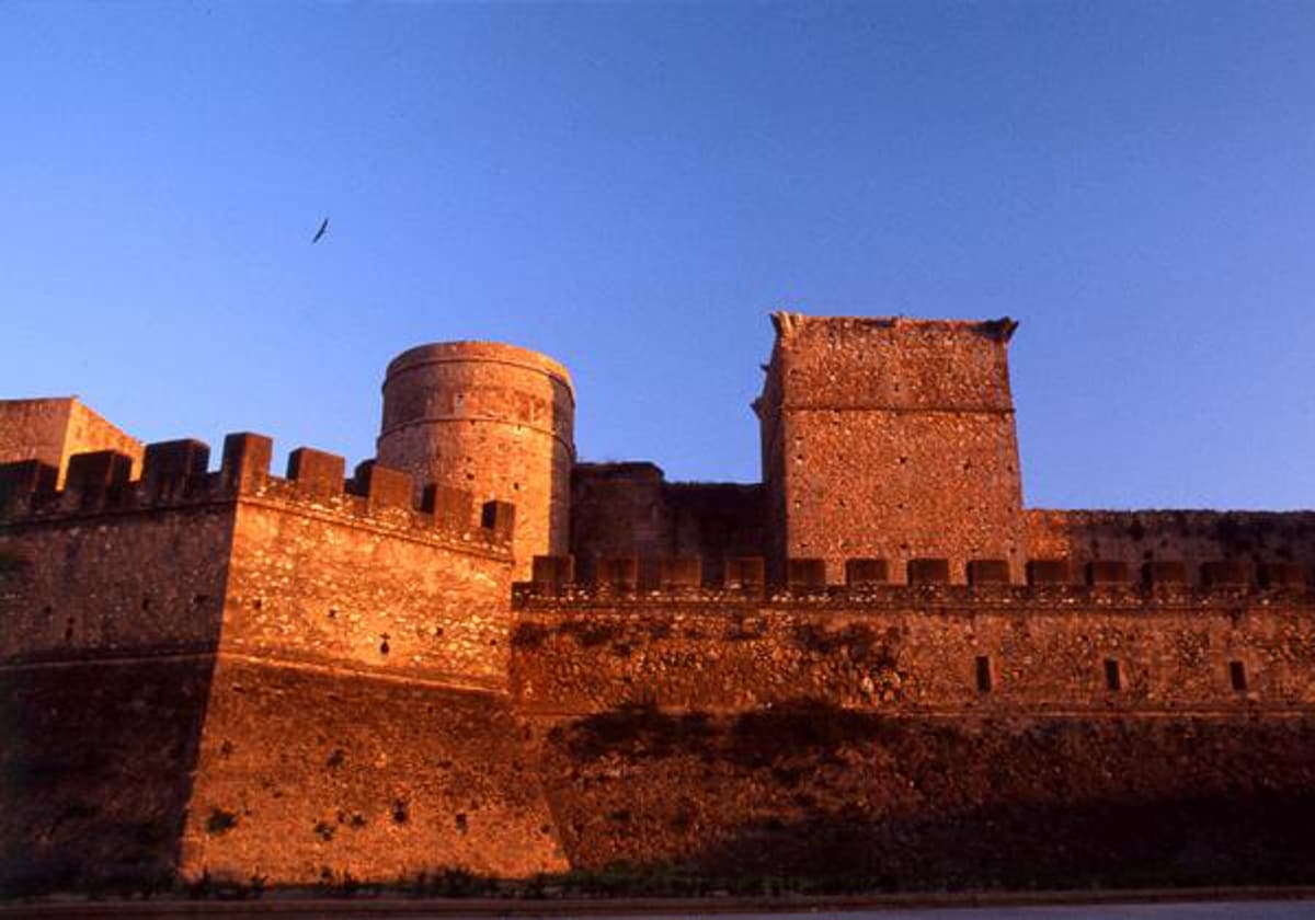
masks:
<instances>
[{"instance_id":1,"label":"dark ground strip along the foot of the fortress walls","mask_svg":"<svg viewBox=\"0 0 1315 920\"><path fill-rule=\"evenodd\" d=\"M1298 920L1315 917L1315 888L1220 888L1130 892L1031 892L889 898L698 899L317 899L275 895L260 900L149 902L51 898L0 904L0 917L590 917L684 920L730 915L744 920L809 916L817 920Z\"/></svg>"}]
</instances>

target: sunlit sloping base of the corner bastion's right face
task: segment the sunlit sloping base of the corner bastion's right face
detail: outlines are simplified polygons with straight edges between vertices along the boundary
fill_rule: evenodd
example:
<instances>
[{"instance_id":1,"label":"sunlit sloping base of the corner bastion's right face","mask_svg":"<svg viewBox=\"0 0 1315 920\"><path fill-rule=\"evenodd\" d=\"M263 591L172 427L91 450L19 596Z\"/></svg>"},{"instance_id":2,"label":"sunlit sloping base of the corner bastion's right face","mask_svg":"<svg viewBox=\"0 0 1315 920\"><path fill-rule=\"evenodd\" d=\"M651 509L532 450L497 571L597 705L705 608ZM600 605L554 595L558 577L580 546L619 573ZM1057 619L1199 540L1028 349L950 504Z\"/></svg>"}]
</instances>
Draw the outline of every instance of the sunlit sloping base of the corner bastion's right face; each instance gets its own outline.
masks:
<instances>
[{"instance_id":1,"label":"sunlit sloping base of the corner bastion's right face","mask_svg":"<svg viewBox=\"0 0 1315 920\"><path fill-rule=\"evenodd\" d=\"M291 883L565 869L505 698L221 657L180 870Z\"/></svg>"}]
</instances>

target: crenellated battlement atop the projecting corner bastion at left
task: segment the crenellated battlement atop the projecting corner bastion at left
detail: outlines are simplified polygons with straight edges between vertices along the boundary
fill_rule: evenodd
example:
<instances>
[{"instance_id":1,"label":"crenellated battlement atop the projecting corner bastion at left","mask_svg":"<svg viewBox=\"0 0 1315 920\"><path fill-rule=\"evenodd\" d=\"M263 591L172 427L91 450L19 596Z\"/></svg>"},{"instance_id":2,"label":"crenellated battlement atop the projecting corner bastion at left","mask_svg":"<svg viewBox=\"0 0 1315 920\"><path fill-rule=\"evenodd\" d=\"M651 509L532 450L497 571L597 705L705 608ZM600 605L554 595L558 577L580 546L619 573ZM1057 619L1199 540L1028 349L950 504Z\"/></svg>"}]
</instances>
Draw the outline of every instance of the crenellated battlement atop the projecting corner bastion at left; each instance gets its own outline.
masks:
<instances>
[{"instance_id":1,"label":"crenellated battlement atop the projecting corner bastion at left","mask_svg":"<svg viewBox=\"0 0 1315 920\"><path fill-rule=\"evenodd\" d=\"M220 469L208 471L210 448L195 439L147 444L142 473L116 451L76 453L63 489L58 471L41 460L0 464L0 527L122 517L212 503L258 501L292 505L413 538L460 541L508 553L515 506L483 502L468 492L427 484L416 494L410 473L373 460L346 477L343 457L299 447L288 455L287 476L270 472L274 442L239 432L224 440Z\"/></svg>"}]
</instances>

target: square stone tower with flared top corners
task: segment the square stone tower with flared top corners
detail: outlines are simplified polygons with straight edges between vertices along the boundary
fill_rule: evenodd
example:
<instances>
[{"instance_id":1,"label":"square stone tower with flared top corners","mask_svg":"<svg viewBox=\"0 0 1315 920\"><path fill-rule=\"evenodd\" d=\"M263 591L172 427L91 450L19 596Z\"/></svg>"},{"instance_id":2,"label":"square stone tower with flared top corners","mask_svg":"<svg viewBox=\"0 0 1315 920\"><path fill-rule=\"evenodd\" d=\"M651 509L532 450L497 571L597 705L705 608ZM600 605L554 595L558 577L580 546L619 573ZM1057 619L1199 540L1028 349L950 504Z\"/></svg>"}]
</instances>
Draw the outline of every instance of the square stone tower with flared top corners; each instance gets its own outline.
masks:
<instances>
[{"instance_id":1,"label":"square stone tower with flared top corners","mask_svg":"<svg viewBox=\"0 0 1315 920\"><path fill-rule=\"evenodd\" d=\"M763 438L771 563L1027 556L1007 344L1013 319L776 313L753 403Z\"/></svg>"}]
</instances>

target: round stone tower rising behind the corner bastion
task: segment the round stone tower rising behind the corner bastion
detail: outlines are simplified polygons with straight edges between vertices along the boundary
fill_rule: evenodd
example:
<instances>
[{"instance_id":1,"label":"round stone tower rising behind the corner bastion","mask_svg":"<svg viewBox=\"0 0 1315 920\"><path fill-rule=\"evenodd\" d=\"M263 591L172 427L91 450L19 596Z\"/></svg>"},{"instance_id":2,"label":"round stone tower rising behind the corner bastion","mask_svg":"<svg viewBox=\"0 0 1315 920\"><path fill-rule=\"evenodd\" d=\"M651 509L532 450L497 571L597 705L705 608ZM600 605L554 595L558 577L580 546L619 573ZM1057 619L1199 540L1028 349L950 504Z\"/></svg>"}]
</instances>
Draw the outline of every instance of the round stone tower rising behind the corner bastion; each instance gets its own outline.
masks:
<instances>
[{"instance_id":1,"label":"round stone tower rising behind the corner bastion","mask_svg":"<svg viewBox=\"0 0 1315 920\"><path fill-rule=\"evenodd\" d=\"M466 489L515 505L515 577L535 555L568 552L575 392L546 355L496 342L404 351L384 377L379 461L417 488Z\"/></svg>"}]
</instances>

